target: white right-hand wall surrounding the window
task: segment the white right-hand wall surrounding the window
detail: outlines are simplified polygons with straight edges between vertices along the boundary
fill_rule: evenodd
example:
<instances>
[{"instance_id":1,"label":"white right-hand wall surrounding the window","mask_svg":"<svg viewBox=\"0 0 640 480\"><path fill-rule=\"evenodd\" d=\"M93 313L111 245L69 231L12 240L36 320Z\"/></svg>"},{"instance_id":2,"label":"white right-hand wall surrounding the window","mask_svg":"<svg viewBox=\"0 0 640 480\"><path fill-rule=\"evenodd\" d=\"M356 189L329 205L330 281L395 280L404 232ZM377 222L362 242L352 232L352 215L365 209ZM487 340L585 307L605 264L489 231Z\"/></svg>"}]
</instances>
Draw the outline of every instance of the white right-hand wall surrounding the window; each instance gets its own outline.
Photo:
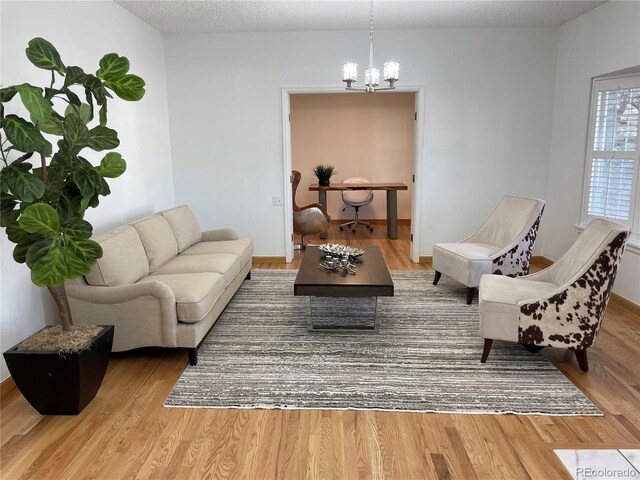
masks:
<instances>
[{"instance_id":1,"label":"white right-hand wall surrounding the window","mask_svg":"<svg viewBox=\"0 0 640 480\"><path fill-rule=\"evenodd\" d=\"M545 256L578 236L591 78L640 65L640 2L608 2L560 27L549 157ZM627 248L614 291L640 303L640 254Z\"/></svg>"}]
</instances>

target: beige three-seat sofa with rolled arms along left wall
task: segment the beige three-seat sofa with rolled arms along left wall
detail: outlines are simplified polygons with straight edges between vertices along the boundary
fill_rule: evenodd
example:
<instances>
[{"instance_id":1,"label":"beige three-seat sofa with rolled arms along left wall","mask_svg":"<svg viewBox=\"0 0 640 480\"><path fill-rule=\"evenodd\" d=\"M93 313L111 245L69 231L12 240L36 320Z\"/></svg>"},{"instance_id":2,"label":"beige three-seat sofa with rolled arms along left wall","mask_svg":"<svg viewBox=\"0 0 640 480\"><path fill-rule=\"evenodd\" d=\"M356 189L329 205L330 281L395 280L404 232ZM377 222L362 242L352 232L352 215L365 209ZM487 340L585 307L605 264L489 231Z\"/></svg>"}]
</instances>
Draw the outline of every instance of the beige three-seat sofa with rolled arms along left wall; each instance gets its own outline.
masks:
<instances>
[{"instance_id":1,"label":"beige three-seat sofa with rolled arms along left wall","mask_svg":"<svg viewBox=\"0 0 640 480\"><path fill-rule=\"evenodd\" d=\"M201 232L182 205L94 238L102 258L65 282L76 325L115 325L113 351L187 348L189 361L245 278L253 242L232 229Z\"/></svg>"}]
</instances>

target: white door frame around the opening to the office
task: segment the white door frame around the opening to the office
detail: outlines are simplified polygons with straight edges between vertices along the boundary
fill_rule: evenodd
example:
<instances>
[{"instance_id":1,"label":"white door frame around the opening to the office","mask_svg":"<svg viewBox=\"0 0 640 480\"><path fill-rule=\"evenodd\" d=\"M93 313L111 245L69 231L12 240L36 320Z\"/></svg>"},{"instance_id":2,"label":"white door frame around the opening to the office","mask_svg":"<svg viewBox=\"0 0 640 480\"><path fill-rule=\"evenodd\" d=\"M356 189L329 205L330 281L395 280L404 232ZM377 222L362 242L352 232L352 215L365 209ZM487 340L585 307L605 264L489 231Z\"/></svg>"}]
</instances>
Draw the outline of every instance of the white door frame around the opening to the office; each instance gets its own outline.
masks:
<instances>
[{"instance_id":1,"label":"white door frame around the opening to the office","mask_svg":"<svg viewBox=\"0 0 640 480\"><path fill-rule=\"evenodd\" d=\"M410 257L414 263L420 262L420 198L422 198L422 145L424 138L425 85L404 85L393 92L415 93L416 121L413 134L413 195L411 198L411 248ZM293 261L293 198L291 195L291 95L353 93L344 87L282 87L282 150L283 150L283 203L285 225L285 261ZM384 94L384 92L379 92Z\"/></svg>"}]
</instances>

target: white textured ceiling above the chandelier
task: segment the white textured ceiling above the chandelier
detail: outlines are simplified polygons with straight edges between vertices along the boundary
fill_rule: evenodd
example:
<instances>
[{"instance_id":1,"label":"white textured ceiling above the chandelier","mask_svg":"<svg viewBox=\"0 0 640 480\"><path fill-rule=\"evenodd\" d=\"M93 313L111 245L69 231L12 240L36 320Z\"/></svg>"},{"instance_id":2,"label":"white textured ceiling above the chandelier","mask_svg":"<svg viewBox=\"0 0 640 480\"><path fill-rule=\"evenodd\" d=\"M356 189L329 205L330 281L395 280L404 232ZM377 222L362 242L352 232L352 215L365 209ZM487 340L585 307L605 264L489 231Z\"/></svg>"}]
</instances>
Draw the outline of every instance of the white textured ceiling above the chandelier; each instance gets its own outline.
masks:
<instances>
[{"instance_id":1,"label":"white textured ceiling above the chandelier","mask_svg":"<svg viewBox=\"0 0 640 480\"><path fill-rule=\"evenodd\" d=\"M114 0L164 33L368 30L367 0ZM558 26L604 1L376 0L375 28Z\"/></svg>"}]
</instances>

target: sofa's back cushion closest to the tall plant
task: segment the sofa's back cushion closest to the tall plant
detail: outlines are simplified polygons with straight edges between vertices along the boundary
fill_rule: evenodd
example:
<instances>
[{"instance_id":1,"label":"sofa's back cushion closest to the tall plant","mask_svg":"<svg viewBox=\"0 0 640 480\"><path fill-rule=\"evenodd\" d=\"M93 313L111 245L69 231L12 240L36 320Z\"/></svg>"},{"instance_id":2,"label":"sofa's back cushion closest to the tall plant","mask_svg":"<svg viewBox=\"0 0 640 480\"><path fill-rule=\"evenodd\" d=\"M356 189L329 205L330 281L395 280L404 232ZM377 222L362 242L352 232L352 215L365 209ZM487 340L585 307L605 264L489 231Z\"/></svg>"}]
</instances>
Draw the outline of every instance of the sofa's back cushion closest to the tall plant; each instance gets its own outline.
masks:
<instances>
[{"instance_id":1,"label":"sofa's back cushion closest to the tall plant","mask_svg":"<svg viewBox=\"0 0 640 480\"><path fill-rule=\"evenodd\" d=\"M138 232L131 225L95 237L102 257L85 276L95 286L116 287L135 283L149 274L149 260Z\"/></svg>"}]
</instances>

